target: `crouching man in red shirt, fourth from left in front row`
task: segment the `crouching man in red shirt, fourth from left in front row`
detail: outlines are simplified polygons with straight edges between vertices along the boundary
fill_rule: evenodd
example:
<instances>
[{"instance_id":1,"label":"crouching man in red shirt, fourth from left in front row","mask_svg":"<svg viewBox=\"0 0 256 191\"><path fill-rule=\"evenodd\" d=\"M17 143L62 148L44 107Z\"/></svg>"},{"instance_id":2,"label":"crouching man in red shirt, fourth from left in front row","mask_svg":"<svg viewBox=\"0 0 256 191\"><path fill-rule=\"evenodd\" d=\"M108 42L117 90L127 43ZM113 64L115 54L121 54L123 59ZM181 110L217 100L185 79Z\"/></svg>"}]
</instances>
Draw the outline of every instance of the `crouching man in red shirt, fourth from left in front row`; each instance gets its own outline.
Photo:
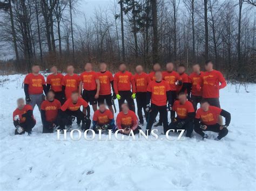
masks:
<instances>
[{"instance_id":1,"label":"crouching man in red shirt, fourth from left in front row","mask_svg":"<svg viewBox=\"0 0 256 191\"><path fill-rule=\"evenodd\" d=\"M114 116L109 109L106 109L104 103L99 104L99 109L93 114L92 120L92 129L95 133L99 133L98 130L112 129L114 131L116 129L116 125L114 125Z\"/></svg>"}]
</instances>

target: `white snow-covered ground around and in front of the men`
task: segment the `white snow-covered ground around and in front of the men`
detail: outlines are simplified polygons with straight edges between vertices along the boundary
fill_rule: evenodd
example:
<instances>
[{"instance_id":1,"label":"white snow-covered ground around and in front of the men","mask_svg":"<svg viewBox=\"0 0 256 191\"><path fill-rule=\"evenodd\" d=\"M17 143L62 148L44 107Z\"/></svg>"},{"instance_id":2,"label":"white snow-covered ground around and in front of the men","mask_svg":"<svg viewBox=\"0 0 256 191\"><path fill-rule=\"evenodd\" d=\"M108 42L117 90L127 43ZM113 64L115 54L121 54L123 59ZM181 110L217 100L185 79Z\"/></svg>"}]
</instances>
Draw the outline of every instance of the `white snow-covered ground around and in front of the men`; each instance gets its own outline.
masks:
<instances>
[{"instance_id":1,"label":"white snow-covered ground around and in front of the men","mask_svg":"<svg viewBox=\"0 0 256 191\"><path fill-rule=\"evenodd\" d=\"M256 188L255 84L248 85L250 93L243 87L235 93L231 84L221 90L221 107L232 119L227 137L219 142L213 140L215 133L204 142L194 132L184 141L160 135L163 140L74 142L68 137L58 142L57 133L42 134L37 108L32 135L14 135L12 112L16 99L24 97L23 79L0 76L0 190Z\"/></svg>"}]
</instances>

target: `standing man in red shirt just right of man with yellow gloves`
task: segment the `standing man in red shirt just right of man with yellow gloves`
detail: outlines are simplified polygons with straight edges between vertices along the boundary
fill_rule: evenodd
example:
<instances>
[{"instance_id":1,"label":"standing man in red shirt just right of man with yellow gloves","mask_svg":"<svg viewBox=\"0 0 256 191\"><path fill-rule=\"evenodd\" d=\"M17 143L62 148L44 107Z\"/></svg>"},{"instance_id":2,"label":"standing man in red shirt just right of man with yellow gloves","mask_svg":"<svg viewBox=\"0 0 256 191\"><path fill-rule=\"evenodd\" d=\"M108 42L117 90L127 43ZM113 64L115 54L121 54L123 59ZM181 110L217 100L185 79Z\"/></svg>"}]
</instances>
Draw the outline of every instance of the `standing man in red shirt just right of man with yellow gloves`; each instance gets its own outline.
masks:
<instances>
[{"instance_id":1,"label":"standing man in red shirt just right of man with yellow gloves","mask_svg":"<svg viewBox=\"0 0 256 191\"><path fill-rule=\"evenodd\" d=\"M136 102L137 102L137 112L139 116L139 123L144 124L142 109L144 114L147 117L149 113L146 112L146 96L147 96L147 85L151 82L149 76L143 72L142 65L136 67L136 74L134 75L134 82L136 86Z\"/></svg>"}]
</instances>

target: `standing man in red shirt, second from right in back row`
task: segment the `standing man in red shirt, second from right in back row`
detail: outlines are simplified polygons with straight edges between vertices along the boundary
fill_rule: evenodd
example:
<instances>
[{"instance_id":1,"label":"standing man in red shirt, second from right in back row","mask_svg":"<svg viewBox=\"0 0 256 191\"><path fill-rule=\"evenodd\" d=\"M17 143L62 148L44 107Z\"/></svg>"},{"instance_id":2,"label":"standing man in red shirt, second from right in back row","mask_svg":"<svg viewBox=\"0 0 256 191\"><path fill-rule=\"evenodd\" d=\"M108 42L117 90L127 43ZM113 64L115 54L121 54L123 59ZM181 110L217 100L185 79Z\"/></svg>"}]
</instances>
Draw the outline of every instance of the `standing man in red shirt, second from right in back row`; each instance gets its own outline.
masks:
<instances>
[{"instance_id":1,"label":"standing man in red shirt, second from right in back row","mask_svg":"<svg viewBox=\"0 0 256 191\"><path fill-rule=\"evenodd\" d=\"M200 77L203 76L204 72L200 71L200 66L198 63L194 64L193 73L190 74L190 82L191 82L191 96L188 95L188 100L191 100L194 110L197 110L197 104L201 102L203 91L197 90L197 84L200 82Z\"/></svg>"}]
</instances>

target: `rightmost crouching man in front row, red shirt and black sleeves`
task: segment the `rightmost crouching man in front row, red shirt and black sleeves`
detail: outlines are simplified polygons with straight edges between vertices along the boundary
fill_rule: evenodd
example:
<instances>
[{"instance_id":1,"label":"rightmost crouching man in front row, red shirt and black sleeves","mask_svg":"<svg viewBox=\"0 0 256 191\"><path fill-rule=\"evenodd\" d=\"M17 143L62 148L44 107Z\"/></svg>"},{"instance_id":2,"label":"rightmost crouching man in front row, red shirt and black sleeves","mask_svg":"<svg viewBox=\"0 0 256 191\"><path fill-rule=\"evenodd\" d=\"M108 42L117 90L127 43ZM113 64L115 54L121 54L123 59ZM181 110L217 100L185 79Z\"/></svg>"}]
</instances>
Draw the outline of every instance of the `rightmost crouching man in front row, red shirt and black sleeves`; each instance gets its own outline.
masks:
<instances>
[{"instance_id":1,"label":"rightmost crouching man in front row, red shirt and black sleeves","mask_svg":"<svg viewBox=\"0 0 256 191\"><path fill-rule=\"evenodd\" d=\"M218 116L225 117L225 125L218 124ZM224 109L211 106L207 100L201 101L201 108L197 110L196 118L194 119L194 131L204 138L207 134L203 131L218 132L219 136L215 140L220 140L228 133L227 127L230 124L231 115Z\"/></svg>"}]
</instances>

